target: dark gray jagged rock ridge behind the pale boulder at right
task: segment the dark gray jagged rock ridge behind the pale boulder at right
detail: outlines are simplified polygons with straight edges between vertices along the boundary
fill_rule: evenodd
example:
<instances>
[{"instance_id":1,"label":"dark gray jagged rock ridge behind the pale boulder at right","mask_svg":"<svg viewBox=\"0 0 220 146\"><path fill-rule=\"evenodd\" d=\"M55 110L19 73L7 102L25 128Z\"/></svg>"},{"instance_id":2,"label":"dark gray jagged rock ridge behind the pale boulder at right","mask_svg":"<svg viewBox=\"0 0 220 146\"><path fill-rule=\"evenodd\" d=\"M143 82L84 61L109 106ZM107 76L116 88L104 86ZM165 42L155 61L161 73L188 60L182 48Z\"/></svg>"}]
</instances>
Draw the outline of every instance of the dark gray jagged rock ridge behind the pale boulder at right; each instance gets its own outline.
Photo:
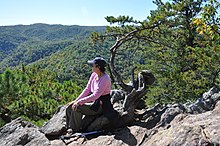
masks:
<instances>
[{"instance_id":1,"label":"dark gray jagged rock ridge behind the pale boulder at right","mask_svg":"<svg viewBox=\"0 0 220 146\"><path fill-rule=\"evenodd\" d=\"M220 92L217 88L211 88L197 99L194 103L160 105L147 109L139 118L145 121L145 126L159 128L169 123L179 114L199 114L213 110L217 101L220 100Z\"/></svg>"}]
</instances>

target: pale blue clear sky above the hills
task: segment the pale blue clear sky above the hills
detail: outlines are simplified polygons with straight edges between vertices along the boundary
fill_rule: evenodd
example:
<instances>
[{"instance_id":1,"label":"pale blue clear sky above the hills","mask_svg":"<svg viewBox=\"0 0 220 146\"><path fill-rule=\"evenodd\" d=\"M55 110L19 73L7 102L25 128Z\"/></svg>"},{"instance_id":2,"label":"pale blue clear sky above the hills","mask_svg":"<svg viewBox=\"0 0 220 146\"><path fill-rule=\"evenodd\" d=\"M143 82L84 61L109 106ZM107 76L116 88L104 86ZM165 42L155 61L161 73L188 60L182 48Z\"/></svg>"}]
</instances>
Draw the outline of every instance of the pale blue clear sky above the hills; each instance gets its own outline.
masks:
<instances>
[{"instance_id":1,"label":"pale blue clear sky above the hills","mask_svg":"<svg viewBox=\"0 0 220 146\"><path fill-rule=\"evenodd\" d=\"M104 26L106 16L144 20L152 0L0 0L0 26L34 23Z\"/></svg>"}]
</instances>

